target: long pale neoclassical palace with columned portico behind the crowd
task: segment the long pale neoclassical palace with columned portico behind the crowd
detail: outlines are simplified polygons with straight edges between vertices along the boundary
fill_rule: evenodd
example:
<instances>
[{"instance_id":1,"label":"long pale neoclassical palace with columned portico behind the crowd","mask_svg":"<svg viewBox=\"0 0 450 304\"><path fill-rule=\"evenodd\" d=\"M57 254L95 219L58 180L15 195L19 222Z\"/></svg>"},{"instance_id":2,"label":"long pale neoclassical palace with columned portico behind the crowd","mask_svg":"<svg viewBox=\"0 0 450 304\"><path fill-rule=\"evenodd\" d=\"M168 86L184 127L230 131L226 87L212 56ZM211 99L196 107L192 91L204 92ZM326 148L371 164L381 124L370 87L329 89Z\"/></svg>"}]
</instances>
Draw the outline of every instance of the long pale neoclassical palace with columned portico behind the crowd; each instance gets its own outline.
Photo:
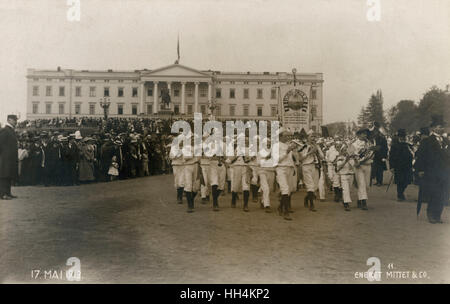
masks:
<instances>
[{"instance_id":1,"label":"long pale neoclassical palace with columned portico behind the crowd","mask_svg":"<svg viewBox=\"0 0 450 304\"><path fill-rule=\"evenodd\" d=\"M181 64L135 71L27 71L27 118L191 117L278 119L282 94L296 86L309 97L310 126L322 124L322 73L200 71ZM164 103L167 95L170 103Z\"/></svg>"}]
</instances>

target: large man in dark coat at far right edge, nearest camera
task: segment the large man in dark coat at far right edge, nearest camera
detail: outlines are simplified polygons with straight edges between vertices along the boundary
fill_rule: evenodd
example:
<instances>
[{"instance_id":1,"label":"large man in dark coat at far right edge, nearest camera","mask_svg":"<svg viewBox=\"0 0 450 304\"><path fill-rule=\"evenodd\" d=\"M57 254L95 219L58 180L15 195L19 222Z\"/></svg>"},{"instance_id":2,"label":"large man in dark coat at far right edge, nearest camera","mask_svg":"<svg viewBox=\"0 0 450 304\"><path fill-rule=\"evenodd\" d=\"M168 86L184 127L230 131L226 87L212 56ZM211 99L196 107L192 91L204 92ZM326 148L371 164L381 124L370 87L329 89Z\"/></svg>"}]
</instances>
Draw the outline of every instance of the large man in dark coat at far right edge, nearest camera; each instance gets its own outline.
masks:
<instances>
[{"instance_id":1,"label":"large man in dark coat at far right edge, nearest camera","mask_svg":"<svg viewBox=\"0 0 450 304\"><path fill-rule=\"evenodd\" d=\"M432 224L442 223L444 202L448 199L450 159L441 136L445 124L442 116L432 117L430 136L421 141L414 164L421 178L424 200L428 201L428 221Z\"/></svg>"}]
</instances>

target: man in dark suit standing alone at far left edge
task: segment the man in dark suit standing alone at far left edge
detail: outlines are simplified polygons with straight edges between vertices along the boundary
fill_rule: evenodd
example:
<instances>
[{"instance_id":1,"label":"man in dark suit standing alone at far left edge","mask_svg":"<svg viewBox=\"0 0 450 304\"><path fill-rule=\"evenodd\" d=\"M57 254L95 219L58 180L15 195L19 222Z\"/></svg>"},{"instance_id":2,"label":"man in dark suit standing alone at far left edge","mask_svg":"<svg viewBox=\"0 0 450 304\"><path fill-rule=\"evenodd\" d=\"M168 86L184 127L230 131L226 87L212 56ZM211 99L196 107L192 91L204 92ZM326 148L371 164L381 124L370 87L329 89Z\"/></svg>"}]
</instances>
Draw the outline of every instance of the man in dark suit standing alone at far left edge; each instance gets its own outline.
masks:
<instances>
[{"instance_id":1,"label":"man in dark suit standing alone at far left edge","mask_svg":"<svg viewBox=\"0 0 450 304\"><path fill-rule=\"evenodd\" d=\"M11 184L18 176L18 146L14 128L17 116L8 115L5 127L0 130L0 199L16 198L11 194Z\"/></svg>"}]
</instances>

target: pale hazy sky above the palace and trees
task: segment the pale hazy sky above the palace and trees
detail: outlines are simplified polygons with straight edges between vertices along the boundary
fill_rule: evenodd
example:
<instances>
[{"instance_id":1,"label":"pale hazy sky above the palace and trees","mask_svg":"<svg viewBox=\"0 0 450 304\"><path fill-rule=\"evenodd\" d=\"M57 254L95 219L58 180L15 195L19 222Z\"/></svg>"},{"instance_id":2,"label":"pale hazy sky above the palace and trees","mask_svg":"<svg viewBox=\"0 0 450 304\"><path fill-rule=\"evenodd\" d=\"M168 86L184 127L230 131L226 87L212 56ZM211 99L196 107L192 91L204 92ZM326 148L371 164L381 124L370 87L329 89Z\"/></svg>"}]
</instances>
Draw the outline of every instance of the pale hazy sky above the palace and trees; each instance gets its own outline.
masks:
<instances>
[{"instance_id":1,"label":"pale hazy sky above the palace and trees","mask_svg":"<svg viewBox=\"0 0 450 304\"><path fill-rule=\"evenodd\" d=\"M324 123L356 120L372 93L385 109L450 83L450 1L0 1L0 122L26 113L27 68L323 73Z\"/></svg>"}]
</instances>

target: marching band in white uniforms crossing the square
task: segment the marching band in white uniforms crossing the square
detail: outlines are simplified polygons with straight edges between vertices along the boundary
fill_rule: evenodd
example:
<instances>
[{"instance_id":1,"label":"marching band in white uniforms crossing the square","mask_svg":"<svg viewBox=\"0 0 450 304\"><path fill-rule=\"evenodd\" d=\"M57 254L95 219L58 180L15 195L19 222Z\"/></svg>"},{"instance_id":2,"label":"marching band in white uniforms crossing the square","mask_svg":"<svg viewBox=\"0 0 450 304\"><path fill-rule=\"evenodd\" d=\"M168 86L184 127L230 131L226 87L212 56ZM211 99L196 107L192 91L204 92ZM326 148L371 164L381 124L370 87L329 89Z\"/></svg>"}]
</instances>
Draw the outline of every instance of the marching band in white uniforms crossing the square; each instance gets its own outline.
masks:
<instances>
[{"instance_id":1,"label":"marching band in white uniforms crossing the square","mask_svg":"<svg viewBox=\"0 0 450 304\"><path fill-rule=\"evenodd\" d=\"M402 133L399 131L399 135ZM293 195L299 192L302 186L306 190L304 206L312 212L317 211L317 194L320 201L325 201L327 191L334 193L334 201L343 204L345 211L351 211L351 193L356 192L358 209L367 211L369 187L371 186L371 173L373 159L379 147L372 136L370 129L360 129L354 138L321 138L312 131L305 137L292 134L281 128L278 133L278 145L272 145L266 157L260 154L249 155L249 137L245 137L245 151L239 151L237 141L242 138L235 136L235 156L217 156L214 145L203 149L213 153L203 152L201 157L184 157L181 154L172 155L174 183L177 191L177 201L182 203L183 193L188 203L188 212L194 211L194 198L201 192L202 203L210 201L212 194L212 207L219 211L219 197L231 193L231 207L236 208L239 194L242 193L242 210L250 211L250 194L253 202L259 202L260 208L265 212L272 212L271 199L278 194L278 214L285 220L292 220L290 213ZM212 136L207 134L205 137ZM242 135L240 135L242 136ZM204 137L204 138L205 138ZM270 145L268 138L256 136L256 142L264 146ZM225 145L229 138L223 140ZM261 142L259 142L261 141ZM215 142L217 143L217 142ZM417 143L416 143L417 144ZM417 147L408 144L411 153L411 166L414 152ZM277 163L270 162L271 155L275 153L279 159ZM212 149L212 150L211 150ZM394 145L393 158L399 157ZM392 159L393 159L392 158ZM405 156L400 156L405 158ZM394 163L398 163L396 160ZM390 167L394 167L392 164ZM392 169L393 170L393 169ZM397 166L396 174L400 174ZM394 172L394 171L393 171ZM403 180L405 180L404 177ZM404 200L403 191L410 180L400 182L398 197ZM397 182L396 182L397 183Z\"/></svg>"}]
</instances>

